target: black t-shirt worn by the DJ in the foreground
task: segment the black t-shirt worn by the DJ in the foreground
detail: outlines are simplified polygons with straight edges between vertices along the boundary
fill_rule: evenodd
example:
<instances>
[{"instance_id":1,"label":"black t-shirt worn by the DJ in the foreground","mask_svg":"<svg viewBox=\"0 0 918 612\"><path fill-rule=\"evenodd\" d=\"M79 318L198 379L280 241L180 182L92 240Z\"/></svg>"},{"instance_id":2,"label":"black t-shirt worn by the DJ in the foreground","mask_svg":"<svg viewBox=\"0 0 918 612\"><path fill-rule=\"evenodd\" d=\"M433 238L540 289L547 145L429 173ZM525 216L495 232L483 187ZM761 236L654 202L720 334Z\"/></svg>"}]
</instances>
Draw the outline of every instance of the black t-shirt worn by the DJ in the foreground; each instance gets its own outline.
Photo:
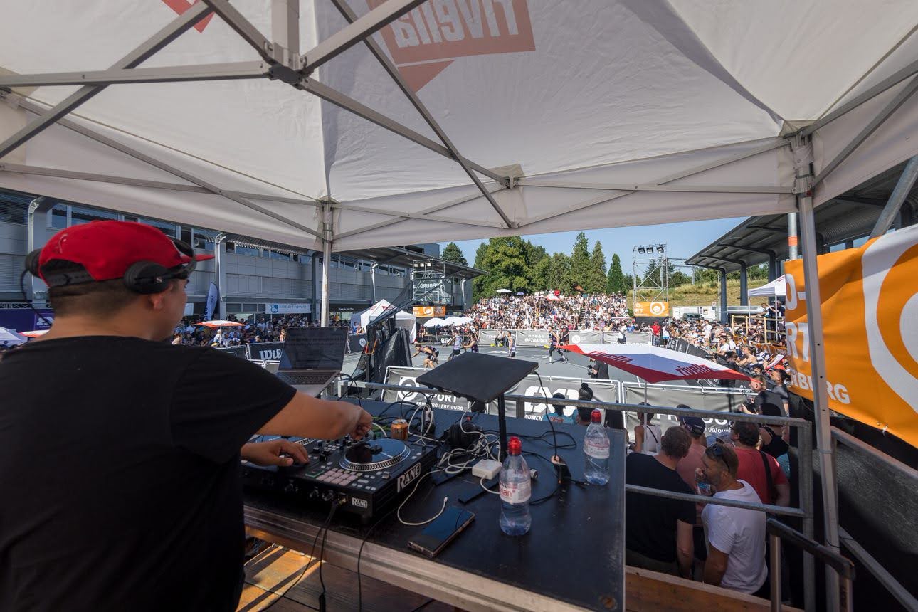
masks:
<instances>
[{"instance_id":1,"label":"black t-shirt worn by the DJ in the foreground","mask_svg":"<svg viewBox=\"0 0 918 612\"><path fill-rule=\"evenodd\" d=\"M0 610L235 610L239 451L292 387L98 336L11 351L0 389Z\"/></svg>"}]
</instances>

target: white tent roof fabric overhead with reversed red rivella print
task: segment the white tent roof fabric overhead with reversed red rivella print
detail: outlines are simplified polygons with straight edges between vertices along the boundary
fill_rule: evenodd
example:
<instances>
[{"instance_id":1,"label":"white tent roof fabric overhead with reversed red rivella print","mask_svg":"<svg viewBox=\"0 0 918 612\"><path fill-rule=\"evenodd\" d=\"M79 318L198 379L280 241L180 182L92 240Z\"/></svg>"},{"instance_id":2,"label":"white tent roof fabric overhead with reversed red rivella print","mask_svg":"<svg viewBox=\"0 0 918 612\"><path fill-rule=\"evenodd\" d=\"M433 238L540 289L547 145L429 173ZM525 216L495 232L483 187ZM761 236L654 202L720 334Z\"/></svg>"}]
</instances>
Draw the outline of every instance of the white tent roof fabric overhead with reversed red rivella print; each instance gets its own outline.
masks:
<instances>
[{"instance_id":1,"label":"white tent roof fabric overhead with reversed red rivella print","mask_svg":"<svg viewBox=\"0 0 918 612\"><path fill-rule=\"evenodd\" d=\"M358 15L381 4L350 3ZM0 84L4 73L105 70L179 18L173 7L192 6L7 5ZM347 24L330 1L298 5L300 52ZM275 39L271 2L232 6ZM113 84L2 157L0 187L315 249L327 229L315 200L327 199L334 250L791 212L795 157L811 153L784 137L899 71L898 84L817 124L815 202L918 154L918 97L907 95L918 86L916 23L912 0L413 8L372 39L451 145L491 169L477 176L509 227L362 43L299 85L349 96L343 104L375 123L279 80ZM240 61L264 60L214 16L140 67ZM17 87L0 103L0 139L74 91ZM389 120L423 144L377 125Z\"/></svg>"}]
</instances>

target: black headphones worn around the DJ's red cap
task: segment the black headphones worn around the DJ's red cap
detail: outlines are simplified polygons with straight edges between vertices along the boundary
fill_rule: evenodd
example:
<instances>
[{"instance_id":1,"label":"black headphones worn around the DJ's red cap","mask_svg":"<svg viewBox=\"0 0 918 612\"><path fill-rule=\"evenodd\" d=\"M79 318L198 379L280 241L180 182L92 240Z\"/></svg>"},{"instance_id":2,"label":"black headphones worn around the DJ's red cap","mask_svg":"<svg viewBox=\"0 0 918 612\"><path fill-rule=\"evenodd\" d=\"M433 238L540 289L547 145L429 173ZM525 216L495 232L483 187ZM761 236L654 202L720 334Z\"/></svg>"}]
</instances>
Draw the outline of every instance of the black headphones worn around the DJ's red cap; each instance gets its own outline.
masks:
<instances>
[{"instance_id":1,"label":"black headphones worn around the DJ's red cap","mask_svg":"<svg viewBox=\"0 0 918 612\"><path fill-rule=\"evenodd\" d=\"M166 268L153 261L135 261L125 271L122 279L124 285L135 294L159 294L169 288L169 282L174 279L185 279L194 272L196 265L195 250L187 242L172 239L175 249L191 258L191 261L177 267ZM55 272L42 277L39 271L41 249L33 250L26 255L26 270L32 276L42 278L49 287L62 287L67 284L80 284L95 282L95 278L86 272Z\"/></svg>"}]
</instances>

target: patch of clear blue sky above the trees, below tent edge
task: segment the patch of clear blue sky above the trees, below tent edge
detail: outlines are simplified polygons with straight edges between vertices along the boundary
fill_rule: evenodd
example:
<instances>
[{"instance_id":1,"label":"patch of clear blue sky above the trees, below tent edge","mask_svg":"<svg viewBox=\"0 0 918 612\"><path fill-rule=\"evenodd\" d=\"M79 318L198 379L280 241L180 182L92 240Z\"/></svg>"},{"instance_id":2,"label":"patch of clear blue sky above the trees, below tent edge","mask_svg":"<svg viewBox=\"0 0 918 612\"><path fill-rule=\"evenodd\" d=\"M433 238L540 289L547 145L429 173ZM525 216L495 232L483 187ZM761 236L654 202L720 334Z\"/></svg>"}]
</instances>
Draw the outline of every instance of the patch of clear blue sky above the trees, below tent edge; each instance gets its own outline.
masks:
<instances>
[{"instance_id":1,"label":"patch of clear blue sky above the trees, below tent edge","mask_svg":"<svg viewBox=\"0 0 918 612\"><path fill-rule=\"evenodd\" d=\"M621 258L621 270L632 272L633 248L641 244L665 242L667 254L671 259L689 258L699 250L720 238L733 229L745 217L714 219L711 221L691 221L688 223L671 223L668 225L640 226L636 228L588 229L589 248L593 249L596 240L602 242L602 251L606 254L606 265L612 260L612 253ZM574 247L576 231L563 231L554 234L533 234L523 236L533 244L541 245L549 254L564 252L570 255ZM475 251L485 240L458 240L456 244L465 253L470 265L475 263ZM440 243L440 249L447 242Z\"/></svg>"}]
</instances>

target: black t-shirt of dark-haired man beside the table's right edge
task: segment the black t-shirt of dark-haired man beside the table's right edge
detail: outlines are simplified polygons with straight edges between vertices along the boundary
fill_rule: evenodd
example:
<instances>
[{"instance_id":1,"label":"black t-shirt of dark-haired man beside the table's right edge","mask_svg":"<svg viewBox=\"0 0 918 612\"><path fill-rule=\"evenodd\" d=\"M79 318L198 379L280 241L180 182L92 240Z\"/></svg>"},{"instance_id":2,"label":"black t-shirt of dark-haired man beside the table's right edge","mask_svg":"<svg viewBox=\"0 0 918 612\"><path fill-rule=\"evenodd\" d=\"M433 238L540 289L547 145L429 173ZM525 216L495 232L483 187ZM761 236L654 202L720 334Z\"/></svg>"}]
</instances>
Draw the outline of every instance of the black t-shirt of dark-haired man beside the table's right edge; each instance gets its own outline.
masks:
<instances>
[{"instance_id":1,"label":"black t-shirt of dark-haired man beside the table's right edge","mask_svg":"<svg viewBox=\"0 0 918 612\"><path fill-rule=\"evenodd\" d=\"M674 493L694 493L676 470L656 461L653 455L633 452L625 459L625 483ZM676 521L695 524L695 505L625 493L625 547L660 562L676 561Z\"/></svg>"}]
</instances>

